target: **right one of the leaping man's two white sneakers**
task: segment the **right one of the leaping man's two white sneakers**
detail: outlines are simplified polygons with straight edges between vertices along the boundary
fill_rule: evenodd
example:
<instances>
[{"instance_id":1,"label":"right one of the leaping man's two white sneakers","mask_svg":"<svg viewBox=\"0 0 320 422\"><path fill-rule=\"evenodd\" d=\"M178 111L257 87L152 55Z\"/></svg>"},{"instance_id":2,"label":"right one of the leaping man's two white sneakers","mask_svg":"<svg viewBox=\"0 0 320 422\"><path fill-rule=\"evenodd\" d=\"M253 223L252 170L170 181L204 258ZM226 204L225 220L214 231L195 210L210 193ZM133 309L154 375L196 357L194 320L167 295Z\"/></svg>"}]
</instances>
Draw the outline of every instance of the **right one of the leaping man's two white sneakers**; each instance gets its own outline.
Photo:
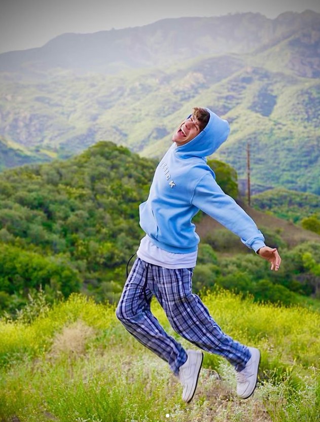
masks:
<instances>
[{"instance_id":1,"label":"right one of the leaping man's two white sneakers","mask_svg":"<svg viewBox=\"0 0 320 422\"><path fill-rule=\"evenodd\" d=\"M258 379L260 351L255 347L248 347L248 349L251 352L251 358L248 360L245 368L236 373L237 395L241 399L247 399L253 394Z\"/></svg>"}]
</instances>

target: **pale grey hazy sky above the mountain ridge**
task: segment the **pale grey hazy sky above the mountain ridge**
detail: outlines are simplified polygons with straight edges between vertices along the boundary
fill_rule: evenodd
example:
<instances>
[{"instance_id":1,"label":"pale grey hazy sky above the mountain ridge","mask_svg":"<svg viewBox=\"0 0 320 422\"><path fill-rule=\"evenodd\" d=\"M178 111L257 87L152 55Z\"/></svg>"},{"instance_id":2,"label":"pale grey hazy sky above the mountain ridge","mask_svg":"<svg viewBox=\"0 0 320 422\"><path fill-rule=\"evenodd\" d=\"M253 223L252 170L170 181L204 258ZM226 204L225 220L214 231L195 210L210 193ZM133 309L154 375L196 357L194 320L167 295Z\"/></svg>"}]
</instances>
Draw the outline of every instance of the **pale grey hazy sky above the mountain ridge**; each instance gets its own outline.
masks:
<instances>
[{"instance_id":1,"label":"pale grey hazy sky above the mountain ridge","mask_svg":"<svg viewBox=\"0 0 320 422\"><path fill-rule=\"evenodd\" d=\"M320 13L319 0L2 0L0 53L41 47L64 32L141 26L163 18L260 12Z\"/></svg>"}]
</instances>

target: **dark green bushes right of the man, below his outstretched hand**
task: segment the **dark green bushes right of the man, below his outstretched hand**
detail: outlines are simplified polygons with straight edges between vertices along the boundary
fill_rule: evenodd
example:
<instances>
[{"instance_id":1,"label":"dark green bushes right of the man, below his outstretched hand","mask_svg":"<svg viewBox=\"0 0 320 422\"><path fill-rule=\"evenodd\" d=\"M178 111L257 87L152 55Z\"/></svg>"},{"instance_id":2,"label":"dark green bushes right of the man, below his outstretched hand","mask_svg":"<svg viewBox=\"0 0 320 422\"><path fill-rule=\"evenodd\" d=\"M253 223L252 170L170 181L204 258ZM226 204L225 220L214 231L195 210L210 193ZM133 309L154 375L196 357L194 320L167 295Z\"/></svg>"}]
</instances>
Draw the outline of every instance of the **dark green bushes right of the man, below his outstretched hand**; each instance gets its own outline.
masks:
<instances>
[{"instance_id":1,"label":"dark green bushes right of the man, below his outstretched hand","mask_svg":"<svg viewBox=\"0 0 320 422\"><path fill-rule=\"evenodd\" d=\"M207 235L205 241L208 243L204 243L202 248L209 249L212 244L217 245L212 242L212 239L216 239L214 236L219 237L219 234ZM203 260L202 252L199 254L200 259L193 275L194 291L199 293L203 289L224 288L242 295L250 294L256 301L280 302L285 305L303 301L307 303L307 296L319 298L319 244L305 242L288 250L277 240L275 233L270 231L268 238L270 245L283 248L280 251L282 265L279 271L270 271L268 262L248 253L245 247L244 253L239 253L239 246L236 247L235 243L222 243L225 241L222 238L217 249L219 254L217 253L215 259ZM238 239L237 241L239 242ZM221 251L228 251L228 254L221 254ZM319 308L317 301L314 305Z\"/></svg>"}]
</instances>

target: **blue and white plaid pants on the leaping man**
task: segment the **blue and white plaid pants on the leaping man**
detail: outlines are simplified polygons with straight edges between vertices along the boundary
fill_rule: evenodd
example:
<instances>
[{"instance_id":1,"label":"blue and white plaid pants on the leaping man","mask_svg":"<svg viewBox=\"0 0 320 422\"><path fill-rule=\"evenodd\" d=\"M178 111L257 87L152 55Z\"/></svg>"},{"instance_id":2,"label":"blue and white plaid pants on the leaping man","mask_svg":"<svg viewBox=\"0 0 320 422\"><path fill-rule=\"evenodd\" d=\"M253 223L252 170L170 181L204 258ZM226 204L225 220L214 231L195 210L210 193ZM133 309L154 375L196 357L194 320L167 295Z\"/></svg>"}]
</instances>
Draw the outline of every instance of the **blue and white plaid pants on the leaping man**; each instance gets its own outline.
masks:
<instances>
[{"instance_id":1,"label":"blue and white plaid pants on the leaping man","mask_svg":"<svg viewBox=\"0 0 320 422\"><path fill-rule=\"evenodd\" d=\"M192 293L191 278L192 269L167 269L137 258L124 286L117 318L177 374L187 354L151 313L150 302L154 295L174 331L199 348L224 356L241 371L251 357L250 351L222 332L199 296Z\"/></svg>"}]
</instances>

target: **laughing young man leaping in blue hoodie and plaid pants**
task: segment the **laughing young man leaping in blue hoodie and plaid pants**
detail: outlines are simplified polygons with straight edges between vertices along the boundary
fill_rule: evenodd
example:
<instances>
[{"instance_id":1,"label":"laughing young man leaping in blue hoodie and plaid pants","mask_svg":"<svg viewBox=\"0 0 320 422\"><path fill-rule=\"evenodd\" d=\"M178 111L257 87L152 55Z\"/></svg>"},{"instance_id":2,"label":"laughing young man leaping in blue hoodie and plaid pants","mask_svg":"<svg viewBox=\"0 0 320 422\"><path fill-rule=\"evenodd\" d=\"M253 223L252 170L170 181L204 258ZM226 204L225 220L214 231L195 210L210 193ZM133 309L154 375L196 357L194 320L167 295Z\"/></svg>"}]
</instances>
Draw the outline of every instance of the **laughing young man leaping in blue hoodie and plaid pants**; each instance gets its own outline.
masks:
<instances>
[{"instance_id":1,"label":"laughing young man leaping in blue hoodie and plaid pants","mask_svg":"<svg viewBox=\"0 0 320 422\"><path fill-rule=\"evenodd\" d=\"M224 356L237 374L237 394L250 397L256 387L260 352L223 333L200 298L192 293L199 236L191 222L199 209L237 234L242 242L278 270L281 259L267 247L254 221L226 195L206 164L229 135L229 124L208 109L193 109L174 132L160 161L146 202L140 204L141 240L117 317L142 344L168 362L183 385L183 400L194 396L203 354L185 350L151 313L155 296L172 328L210 353Z\"/></svg>"}]
</instances>

